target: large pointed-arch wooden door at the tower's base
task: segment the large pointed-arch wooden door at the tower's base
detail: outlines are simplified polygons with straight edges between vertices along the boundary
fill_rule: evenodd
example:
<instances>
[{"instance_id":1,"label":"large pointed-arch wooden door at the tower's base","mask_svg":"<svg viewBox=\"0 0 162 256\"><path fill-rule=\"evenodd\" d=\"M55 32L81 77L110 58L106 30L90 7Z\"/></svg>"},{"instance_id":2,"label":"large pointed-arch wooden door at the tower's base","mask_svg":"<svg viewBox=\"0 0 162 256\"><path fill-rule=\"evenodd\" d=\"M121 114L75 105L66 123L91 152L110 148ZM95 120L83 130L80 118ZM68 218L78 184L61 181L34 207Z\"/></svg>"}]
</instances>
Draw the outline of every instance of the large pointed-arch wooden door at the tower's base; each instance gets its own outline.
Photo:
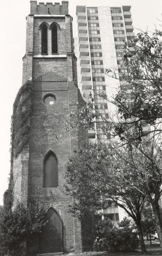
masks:
<instances>
[{"instance_id":1,"label":"large pointed-arch wooden door at the tower's base","mask_svg":"<svg viewBox=\"0 0 162 256\"><path fill-rule=\"evenodd\" d=\"M45 220L47 223L40 238L41 253L63 252L63 227L60 216L50 208Z\"/></svg>"}]
</instances>

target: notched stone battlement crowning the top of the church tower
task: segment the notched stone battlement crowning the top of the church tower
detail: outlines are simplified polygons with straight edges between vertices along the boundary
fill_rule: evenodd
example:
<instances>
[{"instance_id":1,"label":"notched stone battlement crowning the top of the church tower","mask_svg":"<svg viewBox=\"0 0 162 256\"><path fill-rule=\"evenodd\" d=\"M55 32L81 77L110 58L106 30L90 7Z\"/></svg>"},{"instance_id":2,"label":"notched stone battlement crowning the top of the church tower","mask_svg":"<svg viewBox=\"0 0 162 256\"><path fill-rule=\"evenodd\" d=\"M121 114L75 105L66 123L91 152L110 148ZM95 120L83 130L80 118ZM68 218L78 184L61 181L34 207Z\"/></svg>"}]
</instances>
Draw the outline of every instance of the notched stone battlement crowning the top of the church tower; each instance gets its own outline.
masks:
<instances>
[{"instance_id":1,"label":"notched stone battlement crowning the top of the church tower","mask_svg":"<svg viewBox=\"0 0 162 256\"><path fill-rule=\"evenodd\" d=\"M59 2L39 2L30 1L30 14L42 14L42 15L66 15L68 14L68 1L62 1L60 5Z\"/></svg>"}]
</instances>

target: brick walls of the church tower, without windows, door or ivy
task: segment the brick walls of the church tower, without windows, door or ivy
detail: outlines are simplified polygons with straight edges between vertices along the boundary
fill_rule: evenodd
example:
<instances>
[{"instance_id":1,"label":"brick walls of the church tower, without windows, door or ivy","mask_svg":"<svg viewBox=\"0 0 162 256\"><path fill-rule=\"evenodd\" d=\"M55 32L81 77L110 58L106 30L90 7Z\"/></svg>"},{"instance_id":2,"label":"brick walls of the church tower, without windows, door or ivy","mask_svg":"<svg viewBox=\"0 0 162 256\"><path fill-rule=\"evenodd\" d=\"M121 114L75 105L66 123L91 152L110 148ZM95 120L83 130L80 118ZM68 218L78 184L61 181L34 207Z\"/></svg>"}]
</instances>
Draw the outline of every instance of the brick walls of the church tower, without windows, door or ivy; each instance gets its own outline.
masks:
<instances>
[{"instance_id":1,"label":"brick walls of the church tower, without windows, door or ivy","mask_svg":"<svg viewBox=\"0 0 162 256\"><path fill-rule=\"evenodd\" d=\"M48 14L48 8L51 14L57 16L43 17L43 14ZM47 56L41 55L42 22L48 24ZM58 24L58 54L51 56L50 25L53 22ZM77 149L85 141L86 131L74 128L56 139L63 123L69 121L69 112L76 112L78 107L84 105L77 88L76 58L72 42L72 18L68 15L68 3L62 1L62 5L37 5L36 1L31 1L31 14L27 17L26 54L23 57L23 83L28 79L32 80L33 85L30 140L23 151L12 159L12 170L14 206L17 200L25 205L32 200L42 203L47 209L53 207L63 221L64 252L82 252L91 249L91 218L79 221L67 212L72 198L65 194L63 184L68 158L73 149ZM55 95L54 105L47 106L44 103L44 97L48 93ZM58 160L57 188L43 187L44 159L50 150ZM26 255L32 256L34 251L41 253L38 237L32 237L28 241Z\"/></svg>"}]
</instances>

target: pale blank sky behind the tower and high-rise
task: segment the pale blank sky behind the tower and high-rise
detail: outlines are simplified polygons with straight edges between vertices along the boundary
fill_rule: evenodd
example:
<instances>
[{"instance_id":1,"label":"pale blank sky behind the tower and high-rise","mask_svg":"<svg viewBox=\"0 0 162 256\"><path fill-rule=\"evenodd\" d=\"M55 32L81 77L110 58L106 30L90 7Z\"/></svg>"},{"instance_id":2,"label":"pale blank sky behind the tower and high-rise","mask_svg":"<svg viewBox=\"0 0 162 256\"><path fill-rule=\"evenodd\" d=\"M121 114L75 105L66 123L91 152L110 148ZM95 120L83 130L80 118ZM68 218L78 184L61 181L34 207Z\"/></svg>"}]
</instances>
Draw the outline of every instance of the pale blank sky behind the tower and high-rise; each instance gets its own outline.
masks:
<instances>
[{"instance_id":1,"label":"pale blank sky behind the tower and high-rise","mask_svg":"<svg viewBox=\"0 0 162 256\"><path fill-rule=\"evenodd\" d=\"M131 5L135 34L138 33L138 29L145 31L148 28L149 31L154 31L155 26L162 29L162 0L69 0L69 14L73 17L74 37L77 35L76 5ZM3 193L8 186L10 120L14 99L22 85L22 57L25 54L26 41L25 17L29 13L29 0L1 0L0 2L0 205L2 205Z\"/></svg>"}]
</instances>

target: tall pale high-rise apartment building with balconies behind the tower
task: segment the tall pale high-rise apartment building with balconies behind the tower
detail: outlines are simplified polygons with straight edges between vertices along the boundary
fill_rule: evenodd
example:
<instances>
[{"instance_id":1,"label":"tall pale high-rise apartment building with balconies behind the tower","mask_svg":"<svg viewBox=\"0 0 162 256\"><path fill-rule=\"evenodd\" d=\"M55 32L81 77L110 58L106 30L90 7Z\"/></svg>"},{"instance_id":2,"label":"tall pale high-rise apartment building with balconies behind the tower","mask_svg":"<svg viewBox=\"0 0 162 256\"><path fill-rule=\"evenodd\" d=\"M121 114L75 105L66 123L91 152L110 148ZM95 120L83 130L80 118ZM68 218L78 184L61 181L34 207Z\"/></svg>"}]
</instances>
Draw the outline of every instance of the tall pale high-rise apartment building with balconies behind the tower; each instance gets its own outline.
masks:
<instances>
[{"instance_id":1,"label":"tall pale high-rise apartment building with balconies behind the tower","mask_svg":"<svg viewBox=\"0 0 162 256\"><path fill-rule=\"evenodd\" d=\"M75 41L75 55L78 58L78 87L86 101L94 98L95 108L100 110L105 118L113 111L108 100L116 94L119 86L125 81L120 73L121 51L126 47L125 41L134 37L131 6L119 7L87 7L77 6L78 38ZM134 51L130 47L130 51ZM106 68L112 68L118 79L105 74ZM108 97L103 99L101 94ZM128 91L129 93L129 91ZM97 118L97 122L102 122ZM89 131L91 141L108 143L108 138L101 131ZM114 205L104 211L104 215L113 221L118 221L118 208Z\"/></svg>"}]
</instances>

